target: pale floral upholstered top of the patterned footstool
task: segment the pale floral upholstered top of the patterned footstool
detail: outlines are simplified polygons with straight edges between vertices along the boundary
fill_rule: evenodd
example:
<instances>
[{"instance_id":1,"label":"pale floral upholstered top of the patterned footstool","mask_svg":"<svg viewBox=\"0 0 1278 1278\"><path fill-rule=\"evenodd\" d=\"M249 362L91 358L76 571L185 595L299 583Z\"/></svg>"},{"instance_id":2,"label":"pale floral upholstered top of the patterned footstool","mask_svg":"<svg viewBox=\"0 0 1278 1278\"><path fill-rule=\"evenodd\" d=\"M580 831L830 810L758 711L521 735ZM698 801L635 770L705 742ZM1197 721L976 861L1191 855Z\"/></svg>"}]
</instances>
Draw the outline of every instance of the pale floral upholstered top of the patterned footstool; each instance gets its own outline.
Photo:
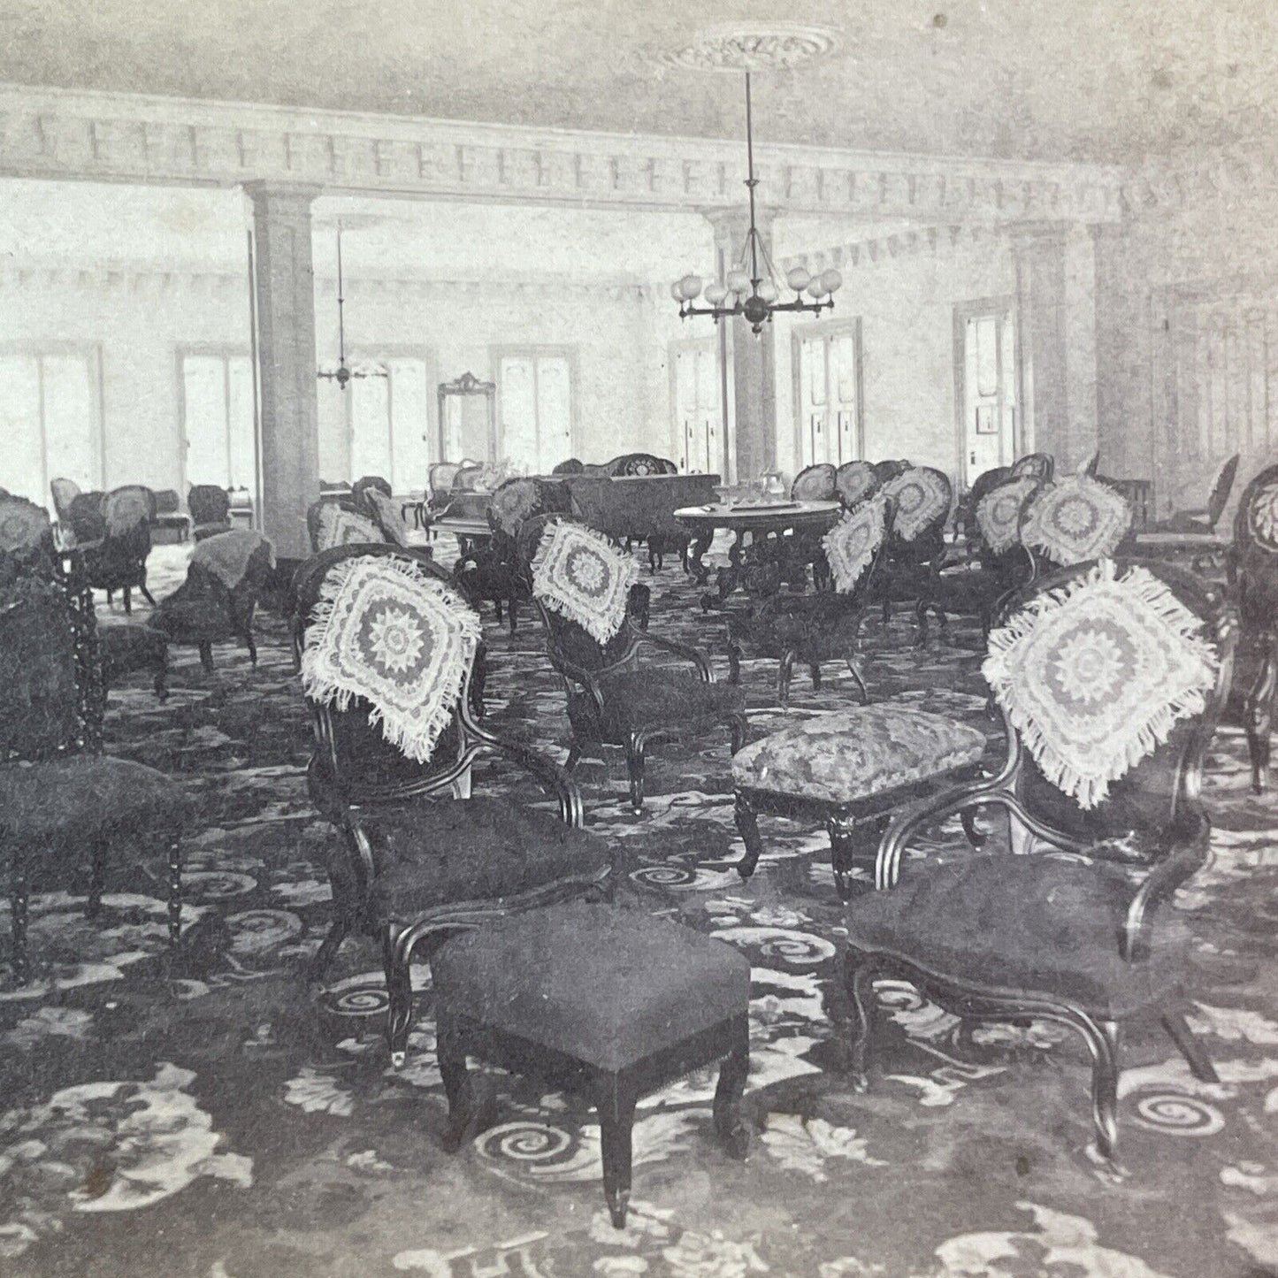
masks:
<instances>
[{"instance_id":1,"label":"pale floral upholstered top of the patterned footstool","mask_svg":"<svg viewBox=\"0 0 1278 1278\"><path fill-rule=\"evenodd\" d=\"M966 723L884 703L822 714L732 758L732 783L854 803L975 763L985 737Z\"/></svg>"}]
</instances>

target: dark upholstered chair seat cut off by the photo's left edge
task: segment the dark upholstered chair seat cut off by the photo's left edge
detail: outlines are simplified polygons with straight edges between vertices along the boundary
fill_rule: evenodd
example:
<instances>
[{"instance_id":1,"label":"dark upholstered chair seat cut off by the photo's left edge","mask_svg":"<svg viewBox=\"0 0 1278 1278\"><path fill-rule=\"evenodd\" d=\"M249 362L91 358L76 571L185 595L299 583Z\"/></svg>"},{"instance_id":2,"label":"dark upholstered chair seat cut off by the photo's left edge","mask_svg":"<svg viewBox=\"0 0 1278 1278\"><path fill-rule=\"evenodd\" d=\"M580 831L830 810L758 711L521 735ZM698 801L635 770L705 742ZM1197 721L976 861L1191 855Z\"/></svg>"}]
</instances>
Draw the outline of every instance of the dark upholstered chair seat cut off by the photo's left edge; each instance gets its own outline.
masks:
<instances>
[{"instance_id":1,"label":"dark upholstered chair seat cut off by the photo's left edge","mask_svg":"<svg viewBox=\"0 0 1278 1278\"><path fill-rule=\"evenodd\" d=\"M180 828L181 789L155 768L107 755L73 754L0 768L0 827L12 838L72 840Z\"/></svg>"}]
</instances>

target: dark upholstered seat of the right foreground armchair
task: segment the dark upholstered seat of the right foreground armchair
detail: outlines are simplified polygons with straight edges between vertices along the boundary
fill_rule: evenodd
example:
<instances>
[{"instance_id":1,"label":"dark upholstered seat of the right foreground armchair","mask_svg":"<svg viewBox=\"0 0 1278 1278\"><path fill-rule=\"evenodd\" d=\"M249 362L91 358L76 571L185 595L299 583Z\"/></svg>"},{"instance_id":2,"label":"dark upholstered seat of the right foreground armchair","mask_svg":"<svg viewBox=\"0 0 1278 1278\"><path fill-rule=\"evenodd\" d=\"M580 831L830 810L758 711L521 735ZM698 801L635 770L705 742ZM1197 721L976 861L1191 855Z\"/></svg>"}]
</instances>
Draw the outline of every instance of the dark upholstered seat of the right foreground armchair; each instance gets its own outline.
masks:
<instances>
[{"instance_id":1,"label":"dark upholstered seat of the right foreground armchair","mask_svg":"<svg viewBox=\"0 0 1278 1278\"><path fill-rule=\"evenodd\" d=\"M849 942L955 984L1040 990L1118 1020L1174 989L1183 957L1183 928L1167 920L1149 962L1123 958L1131 895L1113 865L970 856L852 901Z\"/></svg>"}]
</instances>

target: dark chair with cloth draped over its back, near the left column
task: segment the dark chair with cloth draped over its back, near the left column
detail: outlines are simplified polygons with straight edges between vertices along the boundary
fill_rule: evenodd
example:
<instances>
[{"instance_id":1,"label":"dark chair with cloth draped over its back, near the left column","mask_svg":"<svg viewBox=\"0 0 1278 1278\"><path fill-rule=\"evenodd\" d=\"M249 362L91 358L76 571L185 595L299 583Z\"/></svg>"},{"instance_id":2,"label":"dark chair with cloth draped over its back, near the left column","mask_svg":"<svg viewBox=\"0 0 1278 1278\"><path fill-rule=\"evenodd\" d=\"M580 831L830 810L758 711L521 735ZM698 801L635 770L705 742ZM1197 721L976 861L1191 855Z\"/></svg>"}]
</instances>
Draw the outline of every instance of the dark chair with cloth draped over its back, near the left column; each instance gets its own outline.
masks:
<instances>
[{"instance_id":1,"label":"dark chair with cloth draped over its back, near the left column","mask_svg":"<svg viewBox=\"0 0 1278 1278\"><path fill-rule=\"evenodd\" d=\"M248 528L236 528L196 543L187 580L161 599L151 625L169 643L194 644L206 671L213 668L213 644L238 639L257 665L253 615L275 567L271 543Z\"/></svg>"}]
</instances>

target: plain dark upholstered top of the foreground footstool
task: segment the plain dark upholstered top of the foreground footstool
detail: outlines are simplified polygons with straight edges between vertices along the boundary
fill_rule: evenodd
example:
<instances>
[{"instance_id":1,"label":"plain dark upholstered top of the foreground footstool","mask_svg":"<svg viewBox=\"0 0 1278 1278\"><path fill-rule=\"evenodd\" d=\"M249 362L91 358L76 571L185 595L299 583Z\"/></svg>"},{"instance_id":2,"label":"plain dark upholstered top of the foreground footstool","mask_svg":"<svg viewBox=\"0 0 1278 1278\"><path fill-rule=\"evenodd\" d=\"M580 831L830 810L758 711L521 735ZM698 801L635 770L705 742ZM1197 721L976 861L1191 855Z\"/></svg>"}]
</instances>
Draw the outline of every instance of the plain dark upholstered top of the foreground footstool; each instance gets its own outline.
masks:
<instances>
[{"instance_id":1,"label":"plain dark upholstered top of the foreground footstool","mask_svg":"<svg viewBox=\"0 0 1278 1278\"><path fill-rule=\"evenodd\" d=\"M674 1047L750 1003L732 946L611 905L516 914L431 960L438 1016L465 1016L601 1070Z\"/></svg>"}]
</instances>

